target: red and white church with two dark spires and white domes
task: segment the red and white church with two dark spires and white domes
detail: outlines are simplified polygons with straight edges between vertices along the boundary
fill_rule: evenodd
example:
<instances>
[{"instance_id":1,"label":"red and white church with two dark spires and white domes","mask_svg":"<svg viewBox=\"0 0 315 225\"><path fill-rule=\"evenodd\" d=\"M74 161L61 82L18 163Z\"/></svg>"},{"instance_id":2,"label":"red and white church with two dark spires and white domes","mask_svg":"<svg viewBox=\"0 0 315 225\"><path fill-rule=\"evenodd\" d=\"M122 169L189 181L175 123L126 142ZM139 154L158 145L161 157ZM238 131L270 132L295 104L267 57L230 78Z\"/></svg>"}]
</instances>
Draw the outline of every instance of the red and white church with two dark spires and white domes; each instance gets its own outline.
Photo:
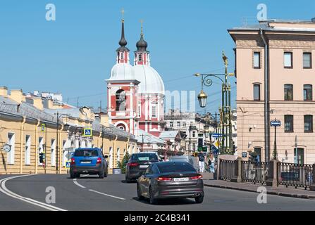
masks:
<instances>
[{"instance_id":1,"label":"red and white church with two dark spires and white domes","mask_svg":"<svg viewBox=\"0 0 315 225\"><path fill-rule=\"evenodd\" d=\"M134 52L134 63L130 64L124 19L121 25L116 65L111 69L111 77L106 80L109 123L135 136L145 132L159 137L164 130L163 80L151 67L150 52L142 29Z\"/></svg>"}]
</instances>

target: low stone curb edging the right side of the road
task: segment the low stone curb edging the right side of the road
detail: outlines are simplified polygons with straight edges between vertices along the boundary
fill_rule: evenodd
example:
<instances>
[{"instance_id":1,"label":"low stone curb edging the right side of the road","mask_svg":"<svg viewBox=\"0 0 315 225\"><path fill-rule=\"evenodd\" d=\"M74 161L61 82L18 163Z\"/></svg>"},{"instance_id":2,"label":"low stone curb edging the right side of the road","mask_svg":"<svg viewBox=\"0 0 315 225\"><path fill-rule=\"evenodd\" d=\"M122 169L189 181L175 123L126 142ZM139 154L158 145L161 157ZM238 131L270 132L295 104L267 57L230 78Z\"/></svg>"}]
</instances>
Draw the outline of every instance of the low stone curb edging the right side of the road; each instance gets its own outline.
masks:
<instances>
[{"instance_id":1,"label":"low stone curb edging the right side of the road","mask_svg":"<svg viewBox=\"0 0 315 225\"><path fill-rule=\"evenodd\" d=\"M228 190L235 190L235 191L257 193L257 191L247 189L247 188L235 188L235 187L221 186L221 185L215 185L215 184L204 184L204 186L210 187L210 188L221 188L221 189L228 189ZM287 198L302 198L302 199L315 200L315 195L298 195L298 194L282 193L282 192L275 192L275 191L267 191L267 194L277 195L280 197L287 197Z\"/></svg>"}]
</instances>

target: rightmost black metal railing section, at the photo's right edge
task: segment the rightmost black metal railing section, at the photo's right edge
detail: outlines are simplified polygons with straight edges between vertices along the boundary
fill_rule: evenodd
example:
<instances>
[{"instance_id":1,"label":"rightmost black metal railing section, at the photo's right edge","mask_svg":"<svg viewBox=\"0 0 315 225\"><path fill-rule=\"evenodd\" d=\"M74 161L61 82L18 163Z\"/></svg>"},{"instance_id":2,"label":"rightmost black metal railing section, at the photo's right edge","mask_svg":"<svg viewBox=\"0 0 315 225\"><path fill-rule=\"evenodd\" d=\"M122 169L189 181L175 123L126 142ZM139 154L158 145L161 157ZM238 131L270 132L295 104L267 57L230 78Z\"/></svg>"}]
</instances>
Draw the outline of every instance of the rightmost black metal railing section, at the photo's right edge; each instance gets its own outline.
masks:
<instances>
[{"instance_id":1,"label":"rightmost black metal railing section, at the photo's right edge","mask_svg":"<svg viewBox=\"0 0 315 225\"><path fill-rule=\"evenodd\" d=\"M278 185L309 188L313 179L313 165L278 163Z\"/></svg>"}]
</instances>

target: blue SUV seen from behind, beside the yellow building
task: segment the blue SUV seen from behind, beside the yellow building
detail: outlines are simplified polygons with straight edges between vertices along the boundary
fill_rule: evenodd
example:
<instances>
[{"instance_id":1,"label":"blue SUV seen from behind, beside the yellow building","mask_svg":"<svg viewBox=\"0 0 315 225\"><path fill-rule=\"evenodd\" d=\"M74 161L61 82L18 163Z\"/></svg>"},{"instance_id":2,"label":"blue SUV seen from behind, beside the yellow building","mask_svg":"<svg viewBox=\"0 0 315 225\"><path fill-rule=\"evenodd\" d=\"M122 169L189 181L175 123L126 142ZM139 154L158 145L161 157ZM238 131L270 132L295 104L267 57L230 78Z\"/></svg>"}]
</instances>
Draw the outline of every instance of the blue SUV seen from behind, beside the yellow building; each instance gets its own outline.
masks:
<instances>
[{"instance_id":1,"label":"blue SUV seen from behind, beside the yellow building","mask_svg":"<svg viewBox=\"0 0 315 225\"><path fill-rule=\"evenodd\" d=\"M104 156L99 148L76 149L70 163L71 179L80 177L80 174L98 174L101 179L107 177L109 167L106 158L108 156Z\"/></svg>"}]
</instances>

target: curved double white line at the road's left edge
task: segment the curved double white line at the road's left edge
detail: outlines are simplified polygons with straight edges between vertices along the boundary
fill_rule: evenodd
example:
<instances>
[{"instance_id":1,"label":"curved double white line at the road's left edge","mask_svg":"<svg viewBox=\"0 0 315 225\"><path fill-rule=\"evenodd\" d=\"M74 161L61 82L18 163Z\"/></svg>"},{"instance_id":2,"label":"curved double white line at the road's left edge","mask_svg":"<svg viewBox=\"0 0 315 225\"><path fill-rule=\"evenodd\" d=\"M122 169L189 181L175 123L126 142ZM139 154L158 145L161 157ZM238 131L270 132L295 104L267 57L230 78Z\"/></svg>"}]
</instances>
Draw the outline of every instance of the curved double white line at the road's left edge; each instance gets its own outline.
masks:
<instances>
[{"instance_id":1,"label":"curved double white line at the road's left edge","mask_svg":"<svg viewBox=\"0 0 315 225\"><path fill-rule=\"evenodd\" d=\"M28 175L22 175L22 176L12 176L12 177L8 177L8 178L5 178L5 179L1 179L0 180L0 191L8 196L10 196L11 198L16 198L18 200L22 200L26 203L30 203L32 205L36 205L38 207L42 207L46 210L50 210L50 211L67 211L67 210L63 210L61 208L58 208L58 207L55 207L53 205L49 205L49 204L46 204L46 203L41 203L37 200L34 200L32 198L25 198L21 195L18 195L16 193L13 193L12 191L8 190L8 188L6 188L6 181L9 181L11 179L16 179L16 178L20 178L20 177L25 177L25 176L35 176L35 174L28 174Z\"/></svg>"}]
</instances>

